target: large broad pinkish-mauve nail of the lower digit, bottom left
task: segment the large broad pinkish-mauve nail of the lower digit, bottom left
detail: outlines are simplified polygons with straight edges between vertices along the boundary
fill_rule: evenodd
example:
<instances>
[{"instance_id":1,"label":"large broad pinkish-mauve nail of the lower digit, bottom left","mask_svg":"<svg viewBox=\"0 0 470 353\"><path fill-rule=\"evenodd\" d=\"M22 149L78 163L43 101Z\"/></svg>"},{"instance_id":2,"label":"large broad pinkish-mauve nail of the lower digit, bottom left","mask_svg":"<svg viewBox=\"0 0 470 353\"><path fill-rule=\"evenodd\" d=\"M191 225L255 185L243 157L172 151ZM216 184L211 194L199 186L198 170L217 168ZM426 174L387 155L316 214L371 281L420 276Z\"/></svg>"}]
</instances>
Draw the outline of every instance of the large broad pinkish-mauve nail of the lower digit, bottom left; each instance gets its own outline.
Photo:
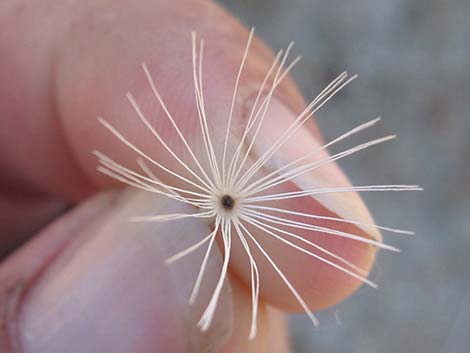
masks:
<instances>
[{"instance_id":1,"label":"large broad pinkish-mauve nail of the lower digit, bottom left","mask_svg":"<svg viewBox=\"0 0 470 353\"><path fill-rule=\"evenodd\" d=\"M191 306L188 299L205 249L165 264L207 235L208 224L196 219L128 221L192 211L150 193L123 191L97 221L83 225L33 283L19 315L22 352L206 353L223 344L232 329L228 283L211 328L201 332L197 327L220 274L218 250L211 254Z\"/></svg>"}]
</instances>

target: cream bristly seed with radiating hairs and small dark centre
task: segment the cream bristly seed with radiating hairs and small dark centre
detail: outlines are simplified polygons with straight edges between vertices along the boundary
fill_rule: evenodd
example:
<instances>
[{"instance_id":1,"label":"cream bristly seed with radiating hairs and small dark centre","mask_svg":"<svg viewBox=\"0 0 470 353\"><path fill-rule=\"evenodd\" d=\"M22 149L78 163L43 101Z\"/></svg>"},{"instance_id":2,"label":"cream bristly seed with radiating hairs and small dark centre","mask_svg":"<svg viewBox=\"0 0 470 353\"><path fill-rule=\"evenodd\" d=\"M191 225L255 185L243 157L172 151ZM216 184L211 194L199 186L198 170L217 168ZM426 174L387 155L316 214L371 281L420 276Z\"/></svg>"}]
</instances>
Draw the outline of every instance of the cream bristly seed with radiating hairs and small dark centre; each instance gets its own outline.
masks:
<instances>
[{"instance_id":1,"label":"cream bristly seed with radiating hairs and small dark centre","mask_svg":"<svg viewBox=\"0 0 470 353\"><path fill-rule=\"evenodd\" d=\"M382 142L393 139L394 136L385 136L378 138L355 147L349 148L340 153L328 156L327 158L316 160L314 162L309 161L309 158L319 151L311 151L308 154L293 160L282 167L262 176L257 177L260 169L270 160L270 158L284 145L289 139L295 134L295 132L308 121L315 112L317 112L324 104L326 104L336 93L338 93L343 87L350 83L356 76L349 77L346 72L340 74L335 78L322 92L320 92L315 99L300 113L295 121L284 131L284 133L275 141L269 148L254 162L249 162L249 155L253 148L253 142L258 136L261 126L267 118L267 110L271 98L275 92L276 87L280 84L283 78L289 73L292 67L299 61L299 57L295 58L290 64L286 65L286 61L292 47L292 43L287 47L286 51L279 51L274 59L271 67L269 68L263 82L260 85L258 94L254 101L253 107L248 117L244 132L241 136L238 146L235 151L229 156L227 144L229 140L229 134L232 128L232 115L234 111L234 105L237 97L237 89L240 81L240 76L245 65L249 48L252 42L254 30L252 29L248 41L245 47L245 51L241 60L241 64L238 70L238 74L235 80L235 87L233 90L233 96L231 100L231 106L227 119L227 127L225 130L225 139L223 150L221 153L216 151L212 141L211 131L208 124L208 116L206 114L204 95L202 90L202 63L203 63L203 41L199 42L197 46L196 34L192 33L192 65L193 65L193 81L194 81L194 93L196 98L196 108L198 112L199 126L201 129L201 135L203 139L204 152L203 155L196 155L187 139L181 132L180 128L176 124L172 114L167 109L163 99L158 92L155 82L152 79L150 71L145 63L142 64L144 73L148 79L149 85L158 100L159 104L163 108L166 118L169 120L171 126L174 128L180 142L184 145L184 148L191 158L191 163L194 167L190 167L188 162L183 161L182 157L179 156L170 146L164 141L161 135L154 129L149 123L139 105L135 101L131 93L127 93L127 98L134 108L137 116L146 125L152 135L162 144L166 151L174 158L174 160L185 169L188 173L188 177L176 172L172 168L163 165L159 161L152 159L147 153L140 150L129 140L127 140L120 132L118 132L109 122L99 117L99 121L103 124L111 133L113 133L122 143L127 147L136 152L139 157L137 163L142 169L141 172L131 170L111 158L107 157L101 152L95 151L94 154L98 157L100 165L98 170L112 178L115 178L123 183L143 189L148 192L166 196L170 199L182 202L184 204L191 205L195 208L194 213L173 213L173 214L161 214L156 216L139 216L134 217L133 221L145 221L145 222L168 222L175 221L184 218L206 218L214 224L213 231L205 236L198 243L191 247L184 249L183 251L175 254L167 260L168 264L171 264L191 252L199 249L202 246L207 245L204 258L202 259L199 274L195 280L193 291L189 298L189 303L195 302L196 297L203 280L205 268L208 262L209 254L211 249L215 246L215 239L217 236L222 237L224 259L220 277L216 283L212 297L210 298L209 304L205 308L202 317L198 323L201 330L207 330L211 324L214 312L217 307L217 302L221 293L222 285L227 276L228 266L230 262L231 246L234 237L237 237L243 245L248 259L250 262L251 271L251 294L252 294L252 321L249 333L249 338L252 339L256 336L256 322L258 313L258 297L259 297L259 271L252 255L252 249L255 248L259 251L262 256L266 258L268 263L273 267L280 279L289 288L295 298L298 300L300 305L309 316L310 320L314 325L318 325L318 321L302 299L300 294L291 284L289 279L284 275L282 270L278 267L274 259L267 253L259 240L254 236L250 229L256 229L263 232L267 236L275 238L280 242L283 242L289 247L297 249L298 251L307 254L319 261L322 261L329 266L336 268L338 271L342 271L349 276L352 276L365 284L372 287L376 287L376 284L366 278L367 272L354 263L347 259L319 246L313 241L309 241L295 233L296 229L307 230L311 232L321 232L335 237L342 237L351 239L357 242L371 244L381 249L387 249L391 251L398 251L398 249L386 245L381 241L375 239L365 238L363 236L343 232L334 228L321 227L307 222L296 221L293 218L301 216L308 219L317 220L330 220L336 222L349 223L357 226L366 228L375 228L384 231L401 233L401 234L412 234L410 231L398 230L376 224L364 224L356 220L350 220L345 218L326 217L321 215L309 214L298 212L292 209L284 209L266 206L267 202L280 201L287 199L296 199L302 197L311 197L314 195L327 194L327 193L343 193L343 192L364 192L364 191L406 191L406 190L420 190L416 185L368 185L368 186L351 186L351 187L337 187L337 188L312 188L300 191L291 191L283 193L270 193L270 189L291 181L300 175L311 172L321 166L332 163L339 159L350 156L358 151L364 150L371 146L380 144ZM198 50L199 49L199 50ZM271 81L270 88L265 92L265 88L268 87L269 81ZM323 145L320 150L325 150L328 147L336 144L337 142L356 134L362 130L365 130L375 125L380 118L371 120L364 124L361 124L352 130L340 135L334 140ZM248 134L251 134L251 142L248 141ZM247 144L247 148L243 148L244 144ZM204 155L205 153L205 155ZM209 168L204 168L202 160L207 161ZM152 172L151 168L147 163L151 163L153 167L158 168L161 172L171 176L175 183L174 185L167 182L161 181ZM183 187L180 185L187 185ZM289 230L286 230L289 229ZM298 245L300 243L303 246ZM312 250L315 250L312 251Z\"/></svg>"}]
</instances>

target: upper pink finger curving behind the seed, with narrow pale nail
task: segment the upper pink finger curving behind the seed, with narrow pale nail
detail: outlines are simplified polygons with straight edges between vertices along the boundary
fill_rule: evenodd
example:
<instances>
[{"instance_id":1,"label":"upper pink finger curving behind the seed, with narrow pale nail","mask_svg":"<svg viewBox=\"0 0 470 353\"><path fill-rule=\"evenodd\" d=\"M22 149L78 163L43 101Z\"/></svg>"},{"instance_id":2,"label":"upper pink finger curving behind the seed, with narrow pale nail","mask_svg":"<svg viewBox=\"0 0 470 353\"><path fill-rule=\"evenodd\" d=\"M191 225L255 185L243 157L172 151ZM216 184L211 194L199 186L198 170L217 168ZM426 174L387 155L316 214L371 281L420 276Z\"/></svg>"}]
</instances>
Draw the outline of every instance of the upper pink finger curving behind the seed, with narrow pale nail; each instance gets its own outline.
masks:
<instances>
[{"instance_id":1,"label":"upper pink finger curving behind the seed, with narrow pale nail","mask_svg":"<svg viewBox=\"0 0 470 353\"><path fill-rule=\"evenodd\" d=\"M114 14L112 18L108 16L108 12L95 12L87 21L78 23L73 35L68 37L70 41L67 43L67 50L62 53L57 64L58 107L61 116L66 117L63 125L74 155L88 177L98 185L105 185L110 181L96 172L97 162L90 155L90 149L96 148L126 167L139 169L136 164L136 149L129 148L128 144L119 141L119 138L94 120L97 115L104 116L110 124L107 125L108 129L116 129L114 135L116 132L122 134L121 140L129 141L159 165L170 169L171 172L160 166L153 169L154 174L163 182L192 192L200 191L194 188L192 182L198 180L194 180L188 170L191 169L194 174L199 173L190 153L200 156L201 169L206 174L210 174L211 169L210 158L206 158L210 154L207 149L210 150L211 143L215 150L214 164L219 165L219 169L223 168L221 164L229 164L228 161L221 162L226 148L227 116L230 115L232 94L249 37L248 31L209 2L163 2L150 6L145 1L139 1L125 13L111 12ZM198 43L197 48L191 50L192 30L197 32L198 38L204 38L203 56L199 52L202 44ZM90 37L93 38L92 42ZM228 135L227 156L230 157L238 142L243 139L249 111L253 101L256 101L260 83L273 61L270 51L260 41L253 39L251 44L238 82L233 121ZM196 58L193 57L194 51L198 52ZM201 58L204 61L199 67ZM147 63L146 72L141 70L141 63L144 61ZM194 66L198 66L196 74ZM199 92L196 92L196 95L201 96L198 107L193 78L199 74L202 82L199 82ZM155 93L153 84L158 94ZM125 97L126 92L132 94L130 102ZM160 100L157 99L158 95ZM269 119L265 119L247 163L254 163L266 152L267 146L272 146L294 124L298 112L302 111L299 109L302 107L301 102L292 82L287 79L280 85L266 114ZM212 139L208 143L209 147L201 133L199 113L207 117L207 130ZM171 115L179 131L172 126L168 115ZM147 122L143 122L142 117ZM192 150L185 148L186 141L181 139L181 135ZM253 136L248 136L245 141L250 138L254 139ZM270 173L310 151L321 150L320 140L315 129L303 127L292 136L294 142L290 144L291 148L279 150L260 173ZM246 143L243 150L248 145ZM169 150L181 157L189 168L175 160ZM321 150L314 157L322 160L328 158L328 154ZM314 161L314 158L308 160L309 163ZM199 177L202 182L204 178L201 175ZM284 183L269 192L282 193L332 186L348 187L350 183L336 164L328 163L321 170L315 170L315 174L305 174L302 178L296 178L295 182ZM289 201L277 203L276 206L294 209ZM362 200L355 193L295 200L295 206L297 211L315 213L320 217L348 217L366 224L373 223ZM157 214L147 212L149 213ZM337 222L329 221L320 221L318 224L363 238L379 238L377 232L369 234L351 224L338 225ZM308 254L298 254L292 248L286 249L285 244L273 237L262 238L263 234L260 234L262 232L259 229L250 228L250 231L255 237L262 239L262 246L270 254L285 254L276 259L279 267L289 274L289 278L292 278L295 287L299 288L312 309L332 305L362 284L358 277L343 273L327 263L320 263L321 261L315 259L312 261ZM375 248L360 241L348 242L344 238L334 239L312 232L298 231L297 234L348 259L361 268L363 273L371 268L375 258ZM254 256L259 264L261 281L263 278L276 278L276 272L264 261L263 255L255 253ZM234 241L231 266L249 286L249 262L240 242ZM281 280L264 281L260 295L271 304L284 309L300 309L296 298Z\"/></svg>"}]
</instances>

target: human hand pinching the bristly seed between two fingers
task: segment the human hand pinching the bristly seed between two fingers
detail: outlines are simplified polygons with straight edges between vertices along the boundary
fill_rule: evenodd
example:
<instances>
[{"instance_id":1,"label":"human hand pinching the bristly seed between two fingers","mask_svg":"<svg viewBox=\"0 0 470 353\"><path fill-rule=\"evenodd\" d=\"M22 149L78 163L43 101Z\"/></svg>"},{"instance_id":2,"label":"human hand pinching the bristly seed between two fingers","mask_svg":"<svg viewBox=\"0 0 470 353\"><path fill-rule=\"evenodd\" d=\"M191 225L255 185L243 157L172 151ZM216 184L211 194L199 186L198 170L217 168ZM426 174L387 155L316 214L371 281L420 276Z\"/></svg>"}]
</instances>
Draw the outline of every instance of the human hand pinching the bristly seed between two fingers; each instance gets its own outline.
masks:
<instances>
[{"instance_id":1,"label":"human hand pinching the bristly seed between two fingers","mask_svg":"<svg viewBox=\"0 0 470 353\"><path fill-rule=\"evenodd\" d=\"M126 91L146 102L158 130L173 137L139 71L142 61L158 77L169 109L191 136L196 126L189 118L195 112L192 30L207 43L206 104L208 115L219 122L215 136L221 140L248 34L217 5L148 0L0 5L0 252L31 238L0 264L1 352L288 351L281 310L300 307L269 264L259 262L262 303L254 340L247 340L250 277L240 248L234 248L230 283L224 285L214 322L208 332L200 332L196 323L219 275L220 256L211 256L200 300L193 306L187 297L200 253L170 266L164 261L202 238L209 226L196 219L178 226L129 223L131 216L183 206L133 190L109 191L115 182L96 171L95 148L123 164L135 163L135 154L99 125L97 115L112 120L143 150L155 149L154 137L137 124L124 99ZM255 40L234 126L246 119L244 108L271 62L271 52ZM303 108L287 79L269 111L275 123L263 131L260 144L272 143ZM294 155L321 144L313 122L295 141L289 152ZM202 141L190 142L202 149ZM311 177L320 186L329 179L345 180L334 164ZM337 209L344 203L359 213L356 218L369 221L356 194L332 202L297 201L305 212L325 216L340 214ZM339 229L369 236L352 225ZM372 246L321 234L311 238L365 269L373 263ZM360 285L282 243L265 239L264 245L312 310L341 301Z\"/></svg>"}]
</instances>

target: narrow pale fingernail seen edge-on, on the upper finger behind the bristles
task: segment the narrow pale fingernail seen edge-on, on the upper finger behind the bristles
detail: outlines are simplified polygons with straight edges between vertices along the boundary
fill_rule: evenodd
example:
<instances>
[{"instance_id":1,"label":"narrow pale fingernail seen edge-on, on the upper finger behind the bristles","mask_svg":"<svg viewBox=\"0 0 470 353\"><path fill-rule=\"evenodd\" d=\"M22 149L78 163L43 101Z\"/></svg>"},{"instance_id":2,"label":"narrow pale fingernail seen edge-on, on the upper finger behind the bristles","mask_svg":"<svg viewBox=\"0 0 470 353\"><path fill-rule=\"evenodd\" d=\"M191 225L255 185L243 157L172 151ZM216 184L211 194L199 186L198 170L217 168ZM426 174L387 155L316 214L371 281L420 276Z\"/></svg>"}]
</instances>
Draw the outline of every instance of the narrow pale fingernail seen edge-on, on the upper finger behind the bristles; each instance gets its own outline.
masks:
<instances>
[{"instance_id":1,"label":"narrow pale fingernail seen edge-on, on the upper finger behind the bristles","mask_svg":"<svg viewBox=\"0 0 470 353\"><path fill-rule=\"evenodd\" d=\"M253 154L256 156L255 158L262 156L262 154L287 131L296 118L297 116L293 114L288 107L279 100L273 99L268 108L261 132L256 136L253 144ZM251 138L253 138L253 133L251 134ZM265 172L270 173L312 151L317 151L317 153L314 153L311 157L302 161L300 165L324 160L329 157L329 153L326 149L322 149L322 146L322 143L320 143L304 125L274 153L272 158L265 165ZM299 166L299 164L294 167L297 166ZM287 168L283 170L283 172L289 171L292 168L293 167ZM351 182L335 162L324 164L320 168L304 173L292 179L291 182L300 190L351 186ZM371 214L358 193L324 193L316 194L312 197L323 207L343 219L353 220L363 224L374 223ZM372 239L381 241L382 237L377 229L361 225L358 225L358 227L366 232Z\"/></svg>"}]
</instances>

